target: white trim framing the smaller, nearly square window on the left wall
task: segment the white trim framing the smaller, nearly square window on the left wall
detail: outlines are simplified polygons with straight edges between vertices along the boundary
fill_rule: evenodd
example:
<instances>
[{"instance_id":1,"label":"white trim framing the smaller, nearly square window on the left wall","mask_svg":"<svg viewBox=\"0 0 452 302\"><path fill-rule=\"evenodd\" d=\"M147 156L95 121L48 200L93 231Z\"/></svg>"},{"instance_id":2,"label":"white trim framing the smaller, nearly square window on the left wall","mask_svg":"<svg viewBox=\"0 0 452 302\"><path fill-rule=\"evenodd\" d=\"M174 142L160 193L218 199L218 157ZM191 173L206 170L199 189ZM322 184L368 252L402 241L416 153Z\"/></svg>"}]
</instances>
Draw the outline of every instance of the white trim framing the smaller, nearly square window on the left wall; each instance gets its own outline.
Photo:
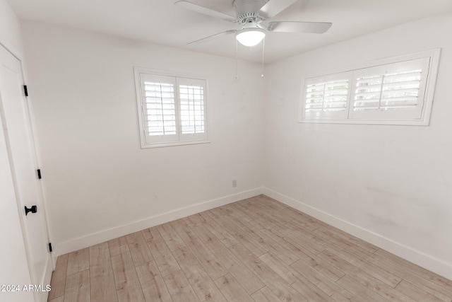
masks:
<instances>
[{"instance_id":1,"label":"white trim framing the smaller, nearly square window on the left wall","mask_svg":"<svg viewBox=\"0 0 452 302\"><path fill-rule=\"evenodd\" d=\"M177 129L177 137L176 141L162 141L162 142L149 142L146 140L145 134L145 117L143 112L143 94L142 94L142 82L141 82L141 74L148 74L153 76L170 76L174 77L174 83L177 83L177 79L193 79L193 80L201 80L205 81L206 86L204 91L204 127L206 135L202 138L195 139L186 139L188 134L182 134L180 127ZM135 79L135 89L136 89L136 106L137 106L137 114L138 114L138 129L140 134L140 144L141 149L148 148L159 148L165 146L182 146L182 145L191 145L191 144L208 144L209 140L209 123L208 123L208 79L207 76L202 76L199 74L189 74L180 71L165 71L158 69L148 69L143 67L133 66L133 75ZM179 89L179 86L176 85L175 91ZM176 93L176 92L174 92ZM178 93L177 93L178 94ZM179 112L179 96L174 96L174 100L176 102L175 107L177 112ZM195 136L194 137L198 137Z\"/></svg>"}]
</instances>

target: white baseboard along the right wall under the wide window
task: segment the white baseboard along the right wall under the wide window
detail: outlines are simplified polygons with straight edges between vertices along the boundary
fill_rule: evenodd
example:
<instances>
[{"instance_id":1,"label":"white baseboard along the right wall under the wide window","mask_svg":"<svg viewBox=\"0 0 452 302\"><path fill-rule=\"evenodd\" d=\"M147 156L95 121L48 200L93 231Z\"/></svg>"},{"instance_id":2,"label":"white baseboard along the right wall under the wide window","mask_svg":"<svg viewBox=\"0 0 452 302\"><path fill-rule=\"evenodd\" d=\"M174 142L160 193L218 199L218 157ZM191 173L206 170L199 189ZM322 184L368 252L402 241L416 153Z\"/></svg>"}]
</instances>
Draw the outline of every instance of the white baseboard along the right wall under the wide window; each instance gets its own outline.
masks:
<instances>
[{"instance_id":1,"label":"white baseboard along the right wall under the wide window","mask_svg":"<svg viewBox=\"0 0 452 302\"><path fill-rule=\"evenodd\" d=\"M304 202L300 202L297 199L293 199L292 197L288 197L285 194L281 194L275 190L271 190L268 187L262 188L262 194L267 195L273 199L278 200L279 202L283 202L283 204L287 204L287 206L302 211L305 214L313 216L316 219L319 219L325 223L330 224L336 228L339 228L342 231L352 234L357 238L365 240L373 245L382 248L383 250L387 250L388 252L393 253L394 255L398 255L405 260L408 260L420 267L424 267L431 272L439 274L447 279L452 280L452 265L446 262L443 262L435 257L429 256L410 248L406 245L397 243L390 238L386 238L380 236L377 233L366 230L360 226L356 226L353 223L344 221L335 217L331 214L328 214L324 211L311 207L309 204L305 204Z\"/></svg>"}]
</instances>

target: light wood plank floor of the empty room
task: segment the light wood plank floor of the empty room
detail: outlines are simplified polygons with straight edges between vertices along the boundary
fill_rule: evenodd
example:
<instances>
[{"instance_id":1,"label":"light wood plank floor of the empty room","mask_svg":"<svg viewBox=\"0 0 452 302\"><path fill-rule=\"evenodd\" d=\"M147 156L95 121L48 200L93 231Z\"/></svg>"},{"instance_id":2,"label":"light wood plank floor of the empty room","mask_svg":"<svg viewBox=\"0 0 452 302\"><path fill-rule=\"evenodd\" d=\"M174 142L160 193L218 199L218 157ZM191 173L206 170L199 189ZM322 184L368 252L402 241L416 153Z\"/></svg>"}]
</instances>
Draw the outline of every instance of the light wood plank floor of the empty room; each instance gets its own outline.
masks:
<instances>
[{"instance_id":1,"label":"light wood plank floor of the empty room","mask_svg":"<svg viewBox=\"0 0 452 302\"><path fill-rule=\"evenodd\" d=\"M452 281L266 196L58 257L52 302L452 301Z\"/></svg>"}]
</instances>

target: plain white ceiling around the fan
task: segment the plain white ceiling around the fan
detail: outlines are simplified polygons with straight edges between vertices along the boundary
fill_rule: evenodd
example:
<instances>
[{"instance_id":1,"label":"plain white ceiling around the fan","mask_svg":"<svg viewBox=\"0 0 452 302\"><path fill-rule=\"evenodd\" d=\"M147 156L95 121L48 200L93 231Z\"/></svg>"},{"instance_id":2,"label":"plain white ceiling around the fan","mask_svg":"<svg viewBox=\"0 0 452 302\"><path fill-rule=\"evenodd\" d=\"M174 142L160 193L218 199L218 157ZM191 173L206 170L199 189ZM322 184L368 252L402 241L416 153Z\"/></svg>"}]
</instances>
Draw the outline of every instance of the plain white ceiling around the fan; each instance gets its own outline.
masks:
<instances>
[{"instance_id":1,"label":"plain white ceiling around the fan","mask_svg":"<svg viewBox=\"0 0 452 302\"><path fill-rule=\"evenodd\" d=\"M237 29L236 23L187 11L174 5L176 0L7 1L21 19L69 25L97 33L235 57L234 35L198 45L187 43ZM234 14L233 0L191 1ZM451 0L299 0L272 20L331 22L333 26L321 35L268 33L265 62L447 11L452 11ZM261 51L261 45L239 45L238 57L261 62Z\"/></svg>"}]
</instances>

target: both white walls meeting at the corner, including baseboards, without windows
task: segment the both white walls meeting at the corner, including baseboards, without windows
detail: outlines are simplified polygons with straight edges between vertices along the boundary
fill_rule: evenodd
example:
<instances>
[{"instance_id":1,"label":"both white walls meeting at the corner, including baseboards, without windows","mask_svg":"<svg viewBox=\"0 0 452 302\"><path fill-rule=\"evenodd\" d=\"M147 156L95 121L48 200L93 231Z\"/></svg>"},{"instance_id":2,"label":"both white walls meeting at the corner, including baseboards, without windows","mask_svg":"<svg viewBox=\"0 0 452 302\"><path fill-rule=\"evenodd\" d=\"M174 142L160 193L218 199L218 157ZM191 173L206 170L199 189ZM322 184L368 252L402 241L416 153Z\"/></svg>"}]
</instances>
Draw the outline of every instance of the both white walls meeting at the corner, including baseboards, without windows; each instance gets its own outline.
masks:
<instances>
[{"instance_id":1,"label":"both white walls meeting at the corner, including baseboards, without windows","mask_svg":"<svg viewBox=\"0 0 452 302\"><path fill-rule=\"evenodd\" d=\"M259 64L239 62L234 81L232 59L24 22L54 255L258 194L263 184L452 279L451 17L275 62L264 83ZM429 127L297 122L302 74L437 47ZM212 143L140 149L132 66L206 74Z\"/></svg>"}]
</instances>

